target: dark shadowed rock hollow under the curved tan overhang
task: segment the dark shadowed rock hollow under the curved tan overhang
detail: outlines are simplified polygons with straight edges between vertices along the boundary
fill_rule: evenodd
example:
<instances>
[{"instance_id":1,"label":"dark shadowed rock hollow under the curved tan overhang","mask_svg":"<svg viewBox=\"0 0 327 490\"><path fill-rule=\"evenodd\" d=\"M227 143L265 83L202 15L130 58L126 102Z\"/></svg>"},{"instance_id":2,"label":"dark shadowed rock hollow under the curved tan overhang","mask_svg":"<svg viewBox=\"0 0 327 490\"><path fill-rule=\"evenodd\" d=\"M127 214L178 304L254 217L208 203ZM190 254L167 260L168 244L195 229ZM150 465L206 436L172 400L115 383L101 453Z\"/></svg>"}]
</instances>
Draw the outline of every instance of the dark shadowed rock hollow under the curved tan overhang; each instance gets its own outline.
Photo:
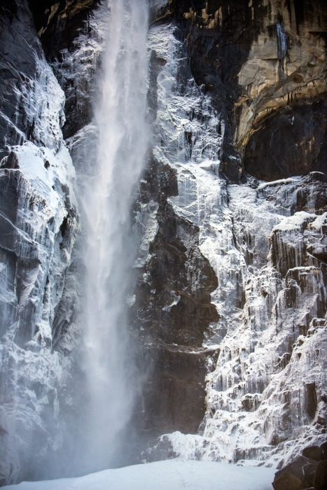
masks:
<instances>
[{"instance_id":1,"label":"dark shadowed rock hollow under the curved tan overhang","mask_svg":"<svg viewBox=\"0 0 327 490\"><path fill-rule=\"evenodd\" d=\"M246 172L265 181L326 172L326 115L322 99L294 104L260 121L246 145Z\"/></svg>"}]
</instances>

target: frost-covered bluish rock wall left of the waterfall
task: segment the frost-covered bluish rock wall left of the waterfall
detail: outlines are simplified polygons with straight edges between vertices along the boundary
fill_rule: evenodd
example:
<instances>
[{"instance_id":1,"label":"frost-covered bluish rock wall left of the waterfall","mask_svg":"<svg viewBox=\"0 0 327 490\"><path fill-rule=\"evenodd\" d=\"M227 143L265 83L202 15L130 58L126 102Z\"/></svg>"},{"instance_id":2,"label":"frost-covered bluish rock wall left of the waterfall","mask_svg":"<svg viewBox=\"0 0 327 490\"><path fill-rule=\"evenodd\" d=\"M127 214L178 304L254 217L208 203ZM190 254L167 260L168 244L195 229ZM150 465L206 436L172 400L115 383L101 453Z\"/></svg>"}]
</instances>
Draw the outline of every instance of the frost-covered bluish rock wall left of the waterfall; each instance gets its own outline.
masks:
<instances>
[{"instance_id":1,"label":"frost-covered bluish rock wall left of the waterfall","mask_svg":"<svg viewBox=\"0 0 327 490\"><path fill-rule=\"evenodd\" d=\"M0 484L32 475L60 447L64 321L78 230L74 167L62 140L64 93L25 3L1 19ZM15 66L15 68L13 67ZM17 104L17 105L15 105ZM60 347L61 345L61 347ZM67 350L67 351L68 351Z\"/></svg>"}]
</instances>

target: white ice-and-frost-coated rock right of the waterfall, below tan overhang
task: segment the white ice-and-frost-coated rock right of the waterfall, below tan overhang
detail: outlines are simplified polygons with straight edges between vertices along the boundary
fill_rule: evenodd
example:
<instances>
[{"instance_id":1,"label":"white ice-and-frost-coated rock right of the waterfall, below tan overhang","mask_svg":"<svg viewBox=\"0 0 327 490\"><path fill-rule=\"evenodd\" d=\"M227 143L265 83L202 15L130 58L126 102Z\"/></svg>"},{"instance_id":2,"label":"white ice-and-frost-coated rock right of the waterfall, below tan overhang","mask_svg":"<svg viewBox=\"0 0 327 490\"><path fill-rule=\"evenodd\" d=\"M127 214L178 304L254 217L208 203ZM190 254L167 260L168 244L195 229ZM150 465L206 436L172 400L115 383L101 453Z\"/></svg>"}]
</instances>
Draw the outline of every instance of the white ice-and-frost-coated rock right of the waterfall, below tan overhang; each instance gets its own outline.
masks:
<instances>
[{"instance_id":1,"label":"white ice-and-frost-coated rock right of the waterfall, below tan overhang","mask_svg":"<svg viewBox=\"0 0 327 490\"><path fill-rule=\"evenodd\" d=\"M203 344L218 360L208 358L199 435L164 435L153 451L169 442L183 457L275 466L326 430L327 186L318 172L226 184L223 116L185 80L175 29L155 26L149 35L164 60L154 155L176 171L170 202L199 227L200 251L218 278L211 302L219 319Z\"/></svg>"}]
</instances>

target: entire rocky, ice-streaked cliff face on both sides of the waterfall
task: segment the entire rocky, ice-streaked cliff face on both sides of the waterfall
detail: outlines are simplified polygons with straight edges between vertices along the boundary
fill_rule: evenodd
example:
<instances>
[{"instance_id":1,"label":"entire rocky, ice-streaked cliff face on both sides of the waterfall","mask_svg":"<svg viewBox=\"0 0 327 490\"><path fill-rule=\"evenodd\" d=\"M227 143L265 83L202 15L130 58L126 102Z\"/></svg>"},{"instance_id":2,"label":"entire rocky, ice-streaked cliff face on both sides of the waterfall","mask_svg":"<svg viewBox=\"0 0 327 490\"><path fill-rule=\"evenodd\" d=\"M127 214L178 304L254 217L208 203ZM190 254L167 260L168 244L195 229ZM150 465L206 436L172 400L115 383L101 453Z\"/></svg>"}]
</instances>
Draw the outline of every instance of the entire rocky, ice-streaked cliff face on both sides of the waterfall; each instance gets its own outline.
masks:
<instances>
[{"instance_id":1,"label":"entire rocky, ice-streaked cliff face on both sides of the waterfall","mask_svg":"<svg viewBox=\"0 0 327 490\"><path fill-rule=\"evenodd\" d=\"M74 167L81 193L108 10L2 9L0 461L13 482L20 465L38 475L29 440L47 458L77 408ZM326 32L322 0L151 1L128 461L170 433L143 457L278 465L326 432Z\"/></svg>"}]
</instances>

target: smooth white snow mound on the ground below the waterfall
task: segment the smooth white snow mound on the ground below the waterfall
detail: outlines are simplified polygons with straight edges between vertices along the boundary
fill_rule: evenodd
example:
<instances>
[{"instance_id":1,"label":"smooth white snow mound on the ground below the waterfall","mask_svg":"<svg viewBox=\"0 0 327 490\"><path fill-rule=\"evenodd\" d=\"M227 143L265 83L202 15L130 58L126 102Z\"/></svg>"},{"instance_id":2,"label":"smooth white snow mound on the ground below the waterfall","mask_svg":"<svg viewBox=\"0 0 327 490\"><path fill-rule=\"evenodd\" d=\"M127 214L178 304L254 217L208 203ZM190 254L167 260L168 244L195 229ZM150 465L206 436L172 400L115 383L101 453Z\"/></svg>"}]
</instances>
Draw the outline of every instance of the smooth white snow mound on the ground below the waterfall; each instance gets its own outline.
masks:
<instances>
[{"instance_id":1,"label":"smooth white snow mound on the ground below the waterfall","mask_svg":"<svg viewBox=\"0 0 327 490\"><path fill-rule=\"evenodd\" d=\"M270 490L271 468L173 459L104 470L80 478L22 482L10 490Z\"/></svg>"}]
</instances>

